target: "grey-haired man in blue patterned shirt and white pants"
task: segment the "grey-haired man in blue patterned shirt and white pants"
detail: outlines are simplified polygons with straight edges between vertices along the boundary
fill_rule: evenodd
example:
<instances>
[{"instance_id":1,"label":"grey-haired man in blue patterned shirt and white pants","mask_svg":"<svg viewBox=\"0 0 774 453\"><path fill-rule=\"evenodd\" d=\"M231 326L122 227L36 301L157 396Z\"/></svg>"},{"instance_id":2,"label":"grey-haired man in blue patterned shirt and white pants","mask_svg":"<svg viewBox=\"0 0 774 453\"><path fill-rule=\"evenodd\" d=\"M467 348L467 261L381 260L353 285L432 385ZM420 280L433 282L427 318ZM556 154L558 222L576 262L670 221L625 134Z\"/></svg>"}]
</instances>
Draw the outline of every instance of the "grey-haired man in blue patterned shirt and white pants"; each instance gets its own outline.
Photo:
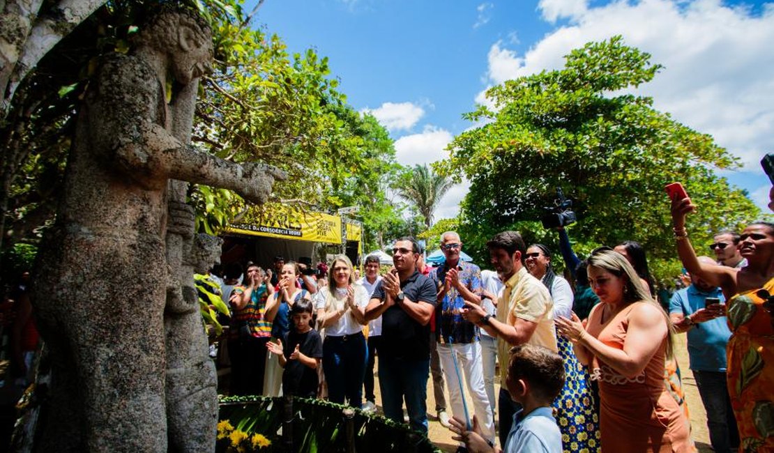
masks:
<instances>
[{"instance_id":1,"label":"grey-haired man in blue patterned shirt and white pants","mask_svg":"<svg viewBox=\"0 0 774 453\"><path fill-rule=\"evenodd\" d=\"M449 389L452 414L464 420L464 396L460 382L464 374L484 436L489 441L494 441L495 422L484 385L478 327L462 318L465 301L481 304L481 269L475 264L460 260L462 242L456 232L447 231L442 234L440 248L444 251L446 261L433 269L428 277L438 288L436 337L438 355ZM464 451L464 446L458 451Z\"/></svg>"}]
</instances>

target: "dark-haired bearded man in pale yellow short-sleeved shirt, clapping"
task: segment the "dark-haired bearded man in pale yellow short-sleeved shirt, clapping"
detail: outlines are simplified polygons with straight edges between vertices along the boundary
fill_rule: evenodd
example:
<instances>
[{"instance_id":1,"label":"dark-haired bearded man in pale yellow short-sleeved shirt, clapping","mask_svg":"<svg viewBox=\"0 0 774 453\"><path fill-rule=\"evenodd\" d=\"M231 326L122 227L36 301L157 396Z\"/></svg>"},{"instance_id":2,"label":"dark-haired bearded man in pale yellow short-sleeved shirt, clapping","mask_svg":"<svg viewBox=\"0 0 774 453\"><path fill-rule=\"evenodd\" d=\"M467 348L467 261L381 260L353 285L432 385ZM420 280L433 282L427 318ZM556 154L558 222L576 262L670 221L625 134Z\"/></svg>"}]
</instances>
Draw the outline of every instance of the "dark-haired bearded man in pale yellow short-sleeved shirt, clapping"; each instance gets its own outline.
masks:
<instances>
[{"instance_id":1,"label":"dark-haired bearded man in pale yellow short-sleeved shirt, clapping","mask_svg":"<svg viewBox=\"0 0 774 453\"><path fill-rule=\"evenodd\" d=\"M557 333L553 326L551 295L537 278L524 267L526 245L519 233L503 231L487 242L491 264L505 282L497 305L497 317L487 315L480 305L465 304L465 317L498 339L500 363L500 444L511 431L513 415L521 406L511 399L505 384L509 349L525 343L543 346L557 352Z\"/></svg>"}]
</instances>

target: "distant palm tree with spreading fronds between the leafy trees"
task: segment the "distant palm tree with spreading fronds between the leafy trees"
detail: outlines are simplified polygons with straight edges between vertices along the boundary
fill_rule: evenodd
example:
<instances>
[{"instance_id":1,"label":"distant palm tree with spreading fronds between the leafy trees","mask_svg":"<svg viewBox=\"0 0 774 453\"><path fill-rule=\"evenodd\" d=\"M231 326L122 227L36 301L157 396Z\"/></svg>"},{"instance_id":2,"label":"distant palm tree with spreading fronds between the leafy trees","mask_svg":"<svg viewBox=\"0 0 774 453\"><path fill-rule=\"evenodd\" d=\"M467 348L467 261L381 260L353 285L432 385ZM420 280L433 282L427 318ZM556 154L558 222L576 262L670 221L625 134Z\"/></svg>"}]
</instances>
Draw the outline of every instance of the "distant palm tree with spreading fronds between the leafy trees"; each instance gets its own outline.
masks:
<instances>
[{"instance_id":1,"label":"distant palm tree with spreading fronds between the leafy trees","mask_svg":"<svg viewBox=\"0 0 774 453\"><path fill-rule=\"evenodd\" d=\"M433 224L433 211L447 190L454 186L454 182L446 176L437 175L427 165L415 165L399 181L399 186L396 187L398 195L414 203L416 209L425 217L425 226L430 229Z\"/></svg>"}]
</instances>

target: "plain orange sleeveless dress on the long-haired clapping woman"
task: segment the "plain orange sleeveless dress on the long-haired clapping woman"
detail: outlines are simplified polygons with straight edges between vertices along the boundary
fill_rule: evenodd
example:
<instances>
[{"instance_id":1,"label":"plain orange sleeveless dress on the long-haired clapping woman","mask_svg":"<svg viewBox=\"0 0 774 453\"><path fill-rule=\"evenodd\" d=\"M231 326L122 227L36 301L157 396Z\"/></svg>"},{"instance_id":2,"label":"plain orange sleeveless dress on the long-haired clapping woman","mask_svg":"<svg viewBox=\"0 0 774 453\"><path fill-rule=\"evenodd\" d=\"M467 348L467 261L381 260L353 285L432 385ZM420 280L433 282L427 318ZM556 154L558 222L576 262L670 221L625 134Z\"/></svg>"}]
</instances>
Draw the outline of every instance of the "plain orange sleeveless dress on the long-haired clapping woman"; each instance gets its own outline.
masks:
<instances>
[{"instance_id":1,"label":"plain orange sleeveless dress on the long-haired clapping woman","mask_svg":"<svg viewBox=\"0 0 774 453\"><path fill-rule=\"evenodd\" d=\"M602 324L604 304L594 307L586 330L607 346L623 349L628 316L638 302L624 308ZM690 452L690 440L683 410L664 385L666 339L645 370L627 378L600 359L592 359L592 377L599 382L601 447L605 453Z\"/></svg>"}]
</instances>

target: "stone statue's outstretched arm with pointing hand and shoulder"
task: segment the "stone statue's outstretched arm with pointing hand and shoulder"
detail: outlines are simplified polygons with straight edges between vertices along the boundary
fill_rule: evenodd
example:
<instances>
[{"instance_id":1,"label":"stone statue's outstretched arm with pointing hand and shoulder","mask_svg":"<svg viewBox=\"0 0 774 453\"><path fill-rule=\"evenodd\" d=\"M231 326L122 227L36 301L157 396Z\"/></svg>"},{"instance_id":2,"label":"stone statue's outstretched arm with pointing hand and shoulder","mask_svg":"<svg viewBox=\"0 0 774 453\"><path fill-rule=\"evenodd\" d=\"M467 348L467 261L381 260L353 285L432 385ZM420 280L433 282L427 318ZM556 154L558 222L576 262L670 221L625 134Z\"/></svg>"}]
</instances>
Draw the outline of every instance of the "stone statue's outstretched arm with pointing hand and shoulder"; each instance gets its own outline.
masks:
<instances>
[{"instance_id":1,"label":"stone statue's outstretched arm with pointing hand and shoulder","mask_svg":"<svg viewBox=\"0 0 774 453\"><path fill-rule=\"evenodd\" d=\"M287 177L271 165L236 164L183 145L176 136L185 135L181 127L190 127L190 118L182 117L193 115L187 107L195 101L196 91L183 90L180 96L191 97L189 102L176 100L165 113L159 82L141 60L132 56L112 60L103 67L99 86L92 134L96 140L111 141L115 163L135 179L153 186L166 185L166 179L205 184L263 203L272 184ZM167 115L171 131L159 124L159 118Z\"/></svg>"}]
</instances>

